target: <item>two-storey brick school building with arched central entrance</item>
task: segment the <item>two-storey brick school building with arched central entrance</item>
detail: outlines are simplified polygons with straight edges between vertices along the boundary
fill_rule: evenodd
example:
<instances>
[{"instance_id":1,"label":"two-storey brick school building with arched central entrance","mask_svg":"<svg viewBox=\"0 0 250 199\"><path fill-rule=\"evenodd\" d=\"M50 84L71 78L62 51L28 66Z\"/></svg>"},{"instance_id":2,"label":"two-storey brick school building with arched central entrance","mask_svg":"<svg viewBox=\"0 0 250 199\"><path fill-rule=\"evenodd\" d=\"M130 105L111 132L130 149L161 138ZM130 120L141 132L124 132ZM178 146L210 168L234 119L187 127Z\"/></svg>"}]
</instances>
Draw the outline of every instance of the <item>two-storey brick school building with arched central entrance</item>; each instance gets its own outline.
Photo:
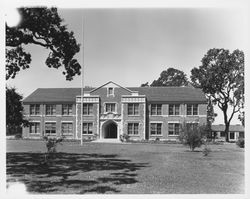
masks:
<instances>
[{"instance_id":1,"label":"two-storey brick school building with arched central entrance","mask_svg":"<svg viewBox=\"0 0 250 199\"><path fill-rule=\"evenodd\" d=\"M205 125L207 100L192 87L41 88L23 100L24 138L175 140L181 125ZM81 135L82 133L82 135Z\"/></svg>"}]
</instances>

